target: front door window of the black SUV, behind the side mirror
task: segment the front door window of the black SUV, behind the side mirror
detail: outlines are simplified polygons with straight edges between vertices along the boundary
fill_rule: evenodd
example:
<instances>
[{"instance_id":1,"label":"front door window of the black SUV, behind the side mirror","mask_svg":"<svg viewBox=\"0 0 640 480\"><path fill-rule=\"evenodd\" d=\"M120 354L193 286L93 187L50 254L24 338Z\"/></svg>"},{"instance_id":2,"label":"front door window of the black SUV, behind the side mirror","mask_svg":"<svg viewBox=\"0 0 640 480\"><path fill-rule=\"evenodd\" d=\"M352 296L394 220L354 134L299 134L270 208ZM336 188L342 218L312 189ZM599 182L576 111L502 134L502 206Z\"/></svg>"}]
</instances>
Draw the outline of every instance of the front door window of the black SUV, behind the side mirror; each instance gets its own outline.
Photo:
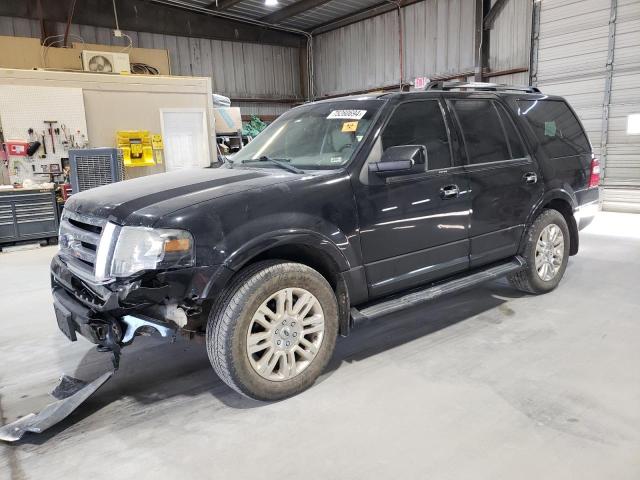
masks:
<instances>
[{"instance_id":1,"label":"front door window of the black SUV, behind the side mirror","mask_svg":"<svg viewBox=\"0 0 640 480\"><path fill-rule=\"evenodd\" d=\"M382 132L382 148L398 145L427 147L429 170L451 166L449 136L437 101L408 102L396 108Z\"/></svg>"}]
</instances>

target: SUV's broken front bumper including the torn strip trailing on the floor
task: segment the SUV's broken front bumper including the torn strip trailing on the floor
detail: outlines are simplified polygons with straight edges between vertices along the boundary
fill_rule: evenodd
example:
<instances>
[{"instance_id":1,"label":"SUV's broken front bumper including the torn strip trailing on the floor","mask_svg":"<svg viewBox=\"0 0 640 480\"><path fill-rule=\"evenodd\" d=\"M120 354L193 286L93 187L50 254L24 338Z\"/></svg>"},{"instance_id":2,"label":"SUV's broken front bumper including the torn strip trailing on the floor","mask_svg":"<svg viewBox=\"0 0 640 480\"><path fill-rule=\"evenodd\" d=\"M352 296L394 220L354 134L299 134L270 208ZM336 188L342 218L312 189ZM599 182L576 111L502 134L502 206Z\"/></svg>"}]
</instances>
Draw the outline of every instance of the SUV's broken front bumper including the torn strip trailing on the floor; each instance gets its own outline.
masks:
<instances>
[{"instance_id":1,"label":"SUV's broken front bumper including the torn strip trailing on the floor","mask_svg":"<svg viewBox=\"0 0 640 480\"><path fill-rule=\"evenodd\" d=\"M57 399L0 427L0 440L15 442L26 432L41 433L67 418L118 369L120 349L140 333L174 337L179 329L197 331L206 320L202 304L230 275L225 267L193 267L153 272L109 285L75 275L59 254L51 262L51 289L58 327L75 342L78 335L113 354L114 369L90 383L63 375L52 395Z\"/></svg>"}]
</instances>

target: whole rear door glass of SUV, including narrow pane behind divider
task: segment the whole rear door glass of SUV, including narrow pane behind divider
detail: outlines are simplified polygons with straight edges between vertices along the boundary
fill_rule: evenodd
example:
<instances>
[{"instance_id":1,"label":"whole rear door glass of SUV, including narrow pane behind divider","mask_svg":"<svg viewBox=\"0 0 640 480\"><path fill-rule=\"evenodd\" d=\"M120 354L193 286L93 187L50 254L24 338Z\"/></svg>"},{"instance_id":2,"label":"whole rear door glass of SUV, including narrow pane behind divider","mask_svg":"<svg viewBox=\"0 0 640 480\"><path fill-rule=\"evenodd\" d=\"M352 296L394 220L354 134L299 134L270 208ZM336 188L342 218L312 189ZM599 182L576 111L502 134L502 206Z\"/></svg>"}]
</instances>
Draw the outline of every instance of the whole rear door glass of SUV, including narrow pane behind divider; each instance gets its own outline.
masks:
<instances>
[{"instance_id":1,"label":"whole rear door glass of SUV, including narrow pane behind divider","mask_svg":"<svg viewBox=\"0 0 640 480\"><path fill-rule=\"evenodd\" d=\"M522 140L502 106L491 100L452 100L470 164L525 156Z\"/></svg>"}]
</instances>

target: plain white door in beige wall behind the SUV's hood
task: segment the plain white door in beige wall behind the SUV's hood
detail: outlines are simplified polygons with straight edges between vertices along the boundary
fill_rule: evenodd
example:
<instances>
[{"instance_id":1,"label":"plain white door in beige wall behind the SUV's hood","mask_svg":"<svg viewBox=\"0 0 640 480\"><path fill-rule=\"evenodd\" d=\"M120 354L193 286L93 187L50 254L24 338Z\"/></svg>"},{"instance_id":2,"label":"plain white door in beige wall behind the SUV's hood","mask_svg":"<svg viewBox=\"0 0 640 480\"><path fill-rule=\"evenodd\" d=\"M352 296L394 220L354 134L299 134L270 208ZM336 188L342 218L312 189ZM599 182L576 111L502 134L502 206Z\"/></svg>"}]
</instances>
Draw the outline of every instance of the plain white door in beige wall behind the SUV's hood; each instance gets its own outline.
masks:
<instances>
[{"instance_id":1,"label":"plain white door in beige wall behind the SUV's hood","mask_svg":"<svg viewBox=\"0 0 640 480\"><path fill-rule=\"evenodd\" d=\"M162 109L162 138L167 172L211 164L204 109Z\"/></svg>"}]
</instances>

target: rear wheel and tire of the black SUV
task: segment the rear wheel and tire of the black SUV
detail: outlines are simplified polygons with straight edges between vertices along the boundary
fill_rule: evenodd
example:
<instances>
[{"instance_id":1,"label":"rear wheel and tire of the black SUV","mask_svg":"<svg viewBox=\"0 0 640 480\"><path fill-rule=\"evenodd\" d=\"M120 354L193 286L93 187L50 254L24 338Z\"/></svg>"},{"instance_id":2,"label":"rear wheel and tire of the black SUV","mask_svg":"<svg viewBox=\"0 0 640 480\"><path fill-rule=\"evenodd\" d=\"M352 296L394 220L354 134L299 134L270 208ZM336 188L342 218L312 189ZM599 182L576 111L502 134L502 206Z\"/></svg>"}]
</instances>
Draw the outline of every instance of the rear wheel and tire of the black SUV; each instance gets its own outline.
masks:
<instances>
[{"instance_id":1,"label":"rear wheel and tire of the black SUV","mask_svg":"<svg viewBox=\"0 0 640 480\"><path fill-rule=\"evenodd\" d=\"M558 231L561 233L557 234ZM541 235L549 236L541 238ZM554 233L556 233L554 237ZM554 238L551 240L551 238ZM538 247L538 241L541 246ZM509 276L512 286L526 293L547 293L558 286L569 262L570 233L567 222L560 212L544 210L527 230L521 251L527 266ZM542 252L541 252L542 250ZM561 250L561 256L558 253ZM547 264L545 267L544 264Z\"/></svg>"}]
</instances>

